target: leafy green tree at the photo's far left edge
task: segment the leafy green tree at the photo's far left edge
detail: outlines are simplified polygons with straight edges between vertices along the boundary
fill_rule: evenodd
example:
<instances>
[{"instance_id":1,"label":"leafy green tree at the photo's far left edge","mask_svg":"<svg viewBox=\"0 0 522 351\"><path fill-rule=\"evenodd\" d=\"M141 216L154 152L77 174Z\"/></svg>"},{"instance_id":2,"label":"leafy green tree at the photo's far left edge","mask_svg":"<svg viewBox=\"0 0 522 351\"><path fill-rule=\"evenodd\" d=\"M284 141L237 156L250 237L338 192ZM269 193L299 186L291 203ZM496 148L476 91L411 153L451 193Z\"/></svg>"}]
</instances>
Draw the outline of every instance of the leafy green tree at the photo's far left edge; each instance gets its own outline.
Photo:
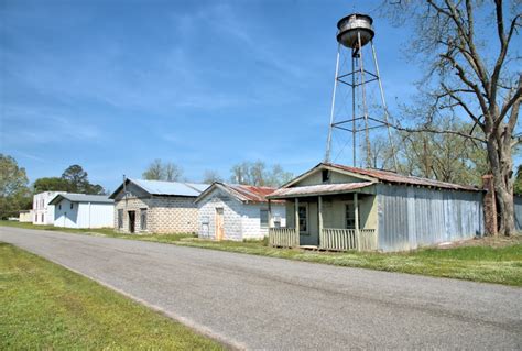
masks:
<instances>
[{"instance_id":1,"label":"leafy green tree at the photo's far left edge","mask_svg":"<svg viewBox=\"0 0 522 351\"><path fill-rule=\"evenodd\" d=\"M22 209L31 207L31 191L28 187L25 168L17 161L0 154L0 218L18 217Z\"/></svg>"}]
</instances>

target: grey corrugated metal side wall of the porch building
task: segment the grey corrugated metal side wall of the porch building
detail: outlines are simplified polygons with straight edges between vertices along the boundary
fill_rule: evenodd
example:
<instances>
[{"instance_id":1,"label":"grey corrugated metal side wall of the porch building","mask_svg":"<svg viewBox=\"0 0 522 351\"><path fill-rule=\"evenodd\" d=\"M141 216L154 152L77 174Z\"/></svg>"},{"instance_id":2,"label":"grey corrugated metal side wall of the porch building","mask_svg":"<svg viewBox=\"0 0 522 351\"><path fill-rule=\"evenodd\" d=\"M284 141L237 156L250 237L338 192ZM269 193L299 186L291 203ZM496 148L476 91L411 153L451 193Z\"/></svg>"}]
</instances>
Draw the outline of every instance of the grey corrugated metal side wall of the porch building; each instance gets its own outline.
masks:
<instances>
[{"instance_id":1,"label":"grey corrugated metal side wall of the porch building","mask_svg":"<svg viewBox=\"0 0 522 351\"><path fill-rule=\"evenodd\" d=\"M483 234L482 193L380 184L377 194L380 250L411 250Z\"/></svg>"}]
</instances>

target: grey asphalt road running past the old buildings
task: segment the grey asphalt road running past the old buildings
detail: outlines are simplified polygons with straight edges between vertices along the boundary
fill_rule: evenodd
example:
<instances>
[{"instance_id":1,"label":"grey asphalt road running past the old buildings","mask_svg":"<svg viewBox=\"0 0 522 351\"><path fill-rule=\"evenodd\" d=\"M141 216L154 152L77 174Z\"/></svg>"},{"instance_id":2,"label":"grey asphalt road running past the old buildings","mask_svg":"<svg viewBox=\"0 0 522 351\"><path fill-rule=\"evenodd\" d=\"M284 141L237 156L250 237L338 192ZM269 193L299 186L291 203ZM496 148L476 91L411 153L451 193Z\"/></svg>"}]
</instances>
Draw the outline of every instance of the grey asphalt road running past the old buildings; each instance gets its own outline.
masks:
<instances>
[{"instance_id":1,"label":"grey asphalt road running past the old buildings","mask_svg":"<svg viewBox=\"0 0 522 351\"><path fill-rule=\"evenodd\" d=\"M13 243L247 349L522 349L522 289L123 239Z\"/></svg>"}]
</instances>

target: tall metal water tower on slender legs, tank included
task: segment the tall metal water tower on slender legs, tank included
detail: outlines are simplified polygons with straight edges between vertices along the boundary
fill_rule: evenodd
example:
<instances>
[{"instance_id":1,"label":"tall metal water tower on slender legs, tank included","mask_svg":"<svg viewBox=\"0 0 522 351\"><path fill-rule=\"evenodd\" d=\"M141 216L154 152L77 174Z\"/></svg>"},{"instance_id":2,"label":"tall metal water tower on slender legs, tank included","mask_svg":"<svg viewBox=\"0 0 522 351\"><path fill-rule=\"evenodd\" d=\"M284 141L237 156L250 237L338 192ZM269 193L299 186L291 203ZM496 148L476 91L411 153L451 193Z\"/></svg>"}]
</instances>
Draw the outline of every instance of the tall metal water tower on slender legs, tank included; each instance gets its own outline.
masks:
<instances>
[{"instance_id":1,"label":"tall metal water tower on slender legs, tank included","mask_svg":"<svg viewBox=\"0 0 522 351\"><path fill-rule=\"evenodd\" d=\"M388 135L385 138L389 140L393 166L396 171L395 149L391 138L388 108L373 46L376 33L372 24L372 18L361 13L349 14L337 23L337 63L325 162L336 161L331 157L331 141L334 131L339 130L340 133L345 133L348 139L351 139L354 166L357 166L358 136L363 134L365 139L360 141L363 142L362 145L366 150L366 166L370 167L372 165L370 132L387 128ZM371 62L373 73L368 68ZM376 81L380 98L373 98L368 94L370 86L372 86L371 83ZM342 96L340 92L345 92L345 95ZM341 96L339 97L339 95ZM372 103L371 113L369 102ZM377 107L377 103L380 106ZM340 110L339 105L344 106L346 110ZM340 152L344 149L341 147Z\"/></svg>"}]
</instances>

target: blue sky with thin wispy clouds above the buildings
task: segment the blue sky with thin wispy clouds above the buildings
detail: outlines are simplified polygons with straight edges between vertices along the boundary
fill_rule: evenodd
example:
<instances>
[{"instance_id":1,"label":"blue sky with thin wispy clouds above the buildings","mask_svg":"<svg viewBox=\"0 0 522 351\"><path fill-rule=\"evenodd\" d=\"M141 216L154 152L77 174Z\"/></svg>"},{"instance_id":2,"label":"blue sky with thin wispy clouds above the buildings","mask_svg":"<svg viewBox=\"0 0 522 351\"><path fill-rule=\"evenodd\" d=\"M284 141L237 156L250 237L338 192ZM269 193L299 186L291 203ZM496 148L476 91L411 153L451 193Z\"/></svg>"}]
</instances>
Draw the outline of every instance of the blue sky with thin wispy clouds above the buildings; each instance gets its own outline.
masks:
<instances>
[{"instance_id":1,"label":"blue sky with thin wispy clouds above the buildings","mask_svg":"<svg viewBox=\"0 0 522 351\"><path fill-rule=\"evenodd\" d=\"M196 182L255 160L298 174L324 157L341 17L374 17L391 109L415 94L379 2L3 0L1 150L31 180L79 164L109 189L154 158Z\"/></svg>"}]
</instances>

